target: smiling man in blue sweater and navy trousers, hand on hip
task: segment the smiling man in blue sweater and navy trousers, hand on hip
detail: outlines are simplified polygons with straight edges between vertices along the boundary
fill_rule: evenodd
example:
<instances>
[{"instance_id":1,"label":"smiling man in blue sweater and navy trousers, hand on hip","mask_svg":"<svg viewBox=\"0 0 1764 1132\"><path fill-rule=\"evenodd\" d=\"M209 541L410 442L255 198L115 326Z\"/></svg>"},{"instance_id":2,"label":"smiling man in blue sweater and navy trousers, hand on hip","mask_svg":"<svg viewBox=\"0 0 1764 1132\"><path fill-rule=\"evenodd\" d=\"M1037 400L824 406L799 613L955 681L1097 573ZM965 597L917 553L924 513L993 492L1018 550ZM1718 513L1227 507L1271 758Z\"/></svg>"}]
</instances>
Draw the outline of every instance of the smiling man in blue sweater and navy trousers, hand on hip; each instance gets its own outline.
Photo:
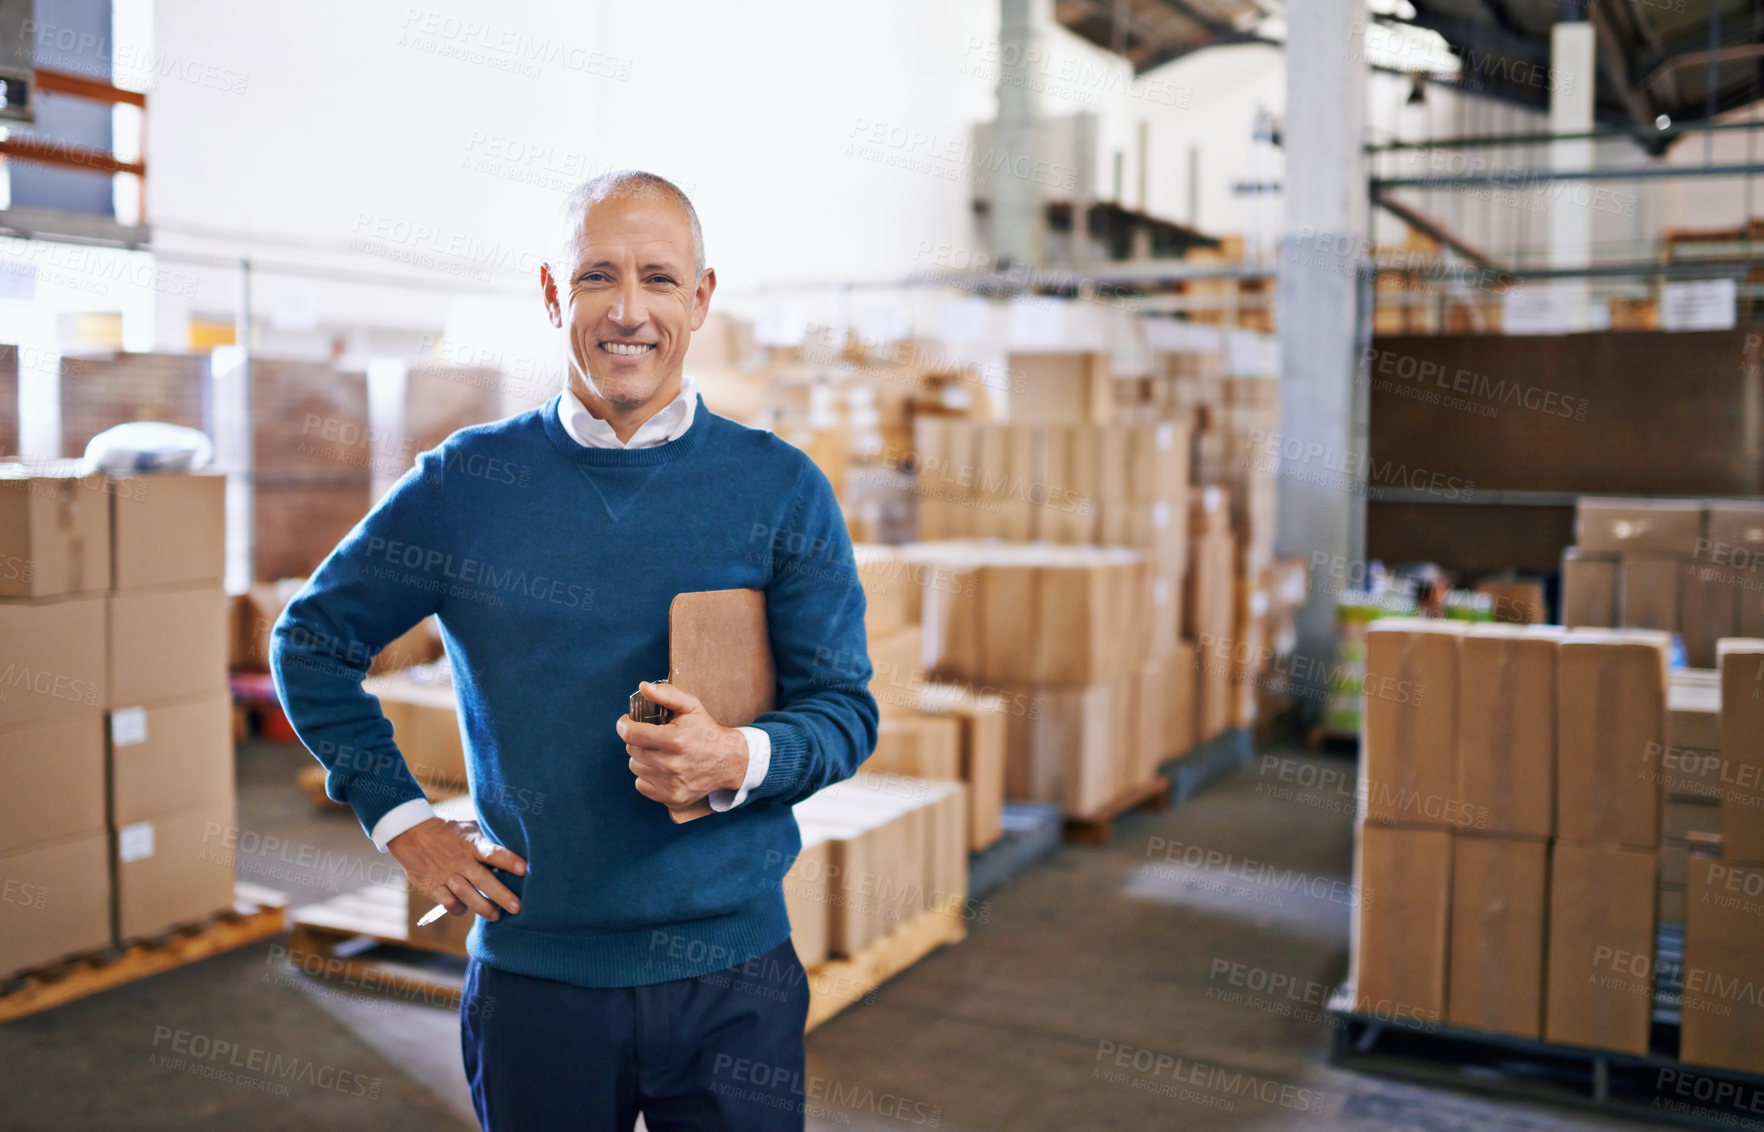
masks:
<instances>
[{"instance_id":1,"label":"smiling man in blue sweater and navy trousers, hand on hip","mask_svg":"<svg viewBox=\"0 0 1764 1132\"><path fill-rule=\"evenodd\" d=\"M288 718L326 790L411 878L482 917L460 1003L485 1128L801 1128L804 972L790 804L875 746L864 598L826 476L683 377L716 273L649 173L570 194L540 270L566 388L425 451L275 626ZM725 728L669 684L669 603L760 589L778 709ZM362 689L437 614L475 823L434 815ZM709 799L676 823L669 806Z\"/></svg>"}]
</instances>

